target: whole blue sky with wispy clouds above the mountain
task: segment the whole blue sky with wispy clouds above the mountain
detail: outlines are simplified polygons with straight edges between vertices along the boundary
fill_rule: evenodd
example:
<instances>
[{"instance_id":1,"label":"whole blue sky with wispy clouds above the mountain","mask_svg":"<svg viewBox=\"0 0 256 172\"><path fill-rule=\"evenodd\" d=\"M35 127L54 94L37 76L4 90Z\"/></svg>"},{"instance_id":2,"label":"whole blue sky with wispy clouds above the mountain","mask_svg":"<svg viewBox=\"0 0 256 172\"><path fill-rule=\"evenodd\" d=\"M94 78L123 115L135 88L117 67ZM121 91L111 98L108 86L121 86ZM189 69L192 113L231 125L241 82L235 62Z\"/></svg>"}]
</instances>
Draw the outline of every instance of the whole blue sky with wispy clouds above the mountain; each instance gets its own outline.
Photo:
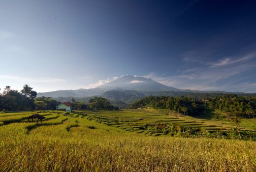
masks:
<instances>
[{"instance_id":1,"label":"whole blue sky with wispy clouds above the mountain","mask_svg":"<svg viewBox=\"0 0 256 172\"><path fill-rule=\"evenodd\" d=\"M91 88L121 75L256 92L256 2L1 0L0 88Z\"/></svg>"}]
</instances>

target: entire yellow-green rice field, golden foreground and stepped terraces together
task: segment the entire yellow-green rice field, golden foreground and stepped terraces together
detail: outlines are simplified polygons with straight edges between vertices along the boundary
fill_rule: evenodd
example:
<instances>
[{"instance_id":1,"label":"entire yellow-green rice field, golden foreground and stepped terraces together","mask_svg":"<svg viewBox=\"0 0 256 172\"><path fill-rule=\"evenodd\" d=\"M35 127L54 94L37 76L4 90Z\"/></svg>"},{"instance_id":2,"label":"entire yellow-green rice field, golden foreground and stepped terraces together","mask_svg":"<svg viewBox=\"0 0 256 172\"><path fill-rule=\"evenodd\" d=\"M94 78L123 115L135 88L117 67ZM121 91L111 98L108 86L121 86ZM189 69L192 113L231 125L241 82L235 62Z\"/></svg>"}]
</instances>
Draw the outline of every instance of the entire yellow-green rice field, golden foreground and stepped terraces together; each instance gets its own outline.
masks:
<instances>
[{"instance_id":1,"label":"entire yellow-green rice field, golden foreground and stepped terraces together","mask_svg":"<svg viewBox=\"0 0 256 172\"><path fill-rule=\"evenodd\" d=\"M170 137L143 129L168 122L221 131L234 127L230 121L151 109L71 115L41 111L46 119L36 126L24 120L34 113L0 114L1 172L256 171L256 142ZM255 131L255 123L255 119L242 120L241 128Z\"/></svg>"}]
</instances>

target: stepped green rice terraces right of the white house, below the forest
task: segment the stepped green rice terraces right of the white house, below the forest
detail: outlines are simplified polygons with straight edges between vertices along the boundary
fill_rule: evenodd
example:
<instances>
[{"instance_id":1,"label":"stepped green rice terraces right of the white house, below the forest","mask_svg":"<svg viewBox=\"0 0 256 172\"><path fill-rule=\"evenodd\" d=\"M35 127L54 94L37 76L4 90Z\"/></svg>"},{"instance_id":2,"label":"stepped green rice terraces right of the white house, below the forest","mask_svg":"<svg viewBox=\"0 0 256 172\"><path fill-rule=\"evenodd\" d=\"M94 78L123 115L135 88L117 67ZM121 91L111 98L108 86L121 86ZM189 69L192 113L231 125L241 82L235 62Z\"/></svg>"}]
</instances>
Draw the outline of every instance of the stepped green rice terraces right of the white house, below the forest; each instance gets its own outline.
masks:
<instances>
[{"instance_id":1,"label":"stepped green rice terraces right of the white house, below the forest","mask_svg":"<svg viewBox=\"0 0 256 172\"><path fill-rule=\"evenodd\" d=\"M191 126L193 129L203 129L210 132L226 132L230 128L234 128L235 124L231 121L198 119L191 116L183 116L173 111L168 110L122 110L122 111L78 111L78 114L83 115L89 120L109 125L116 128L121 128L126 131L135 133L143 133L145 135L161 135L158 132L149 132L145 126L155 123L172 124L185 128ZM241 130L256 131L256 120L249 119L241 125Z\"/></svg>"}]
</instances>

